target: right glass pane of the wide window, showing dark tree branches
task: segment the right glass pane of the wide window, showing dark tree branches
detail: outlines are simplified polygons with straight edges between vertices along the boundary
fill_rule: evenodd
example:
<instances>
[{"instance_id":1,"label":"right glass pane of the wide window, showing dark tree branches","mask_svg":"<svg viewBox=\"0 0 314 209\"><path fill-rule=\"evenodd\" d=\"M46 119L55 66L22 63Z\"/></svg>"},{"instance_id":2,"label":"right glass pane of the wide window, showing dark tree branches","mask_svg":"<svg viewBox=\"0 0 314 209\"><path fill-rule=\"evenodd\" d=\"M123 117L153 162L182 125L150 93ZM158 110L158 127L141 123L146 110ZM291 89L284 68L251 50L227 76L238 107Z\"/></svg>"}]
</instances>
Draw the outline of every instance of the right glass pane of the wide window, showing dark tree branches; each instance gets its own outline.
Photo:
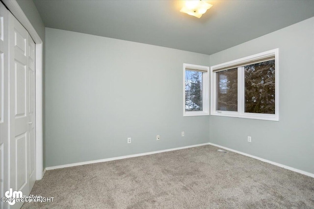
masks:
<instances>
[{"instance_id":1,"label":"right glass pane of the wide window, showing dark tree branches","mask_svg":"<svg viewBox=\"0 0 314 209\"><path fill-rule=\"evenodd\" d=\"M275 60L244 66L245 112L275 114Z\"/></svg>"}]
</instances>

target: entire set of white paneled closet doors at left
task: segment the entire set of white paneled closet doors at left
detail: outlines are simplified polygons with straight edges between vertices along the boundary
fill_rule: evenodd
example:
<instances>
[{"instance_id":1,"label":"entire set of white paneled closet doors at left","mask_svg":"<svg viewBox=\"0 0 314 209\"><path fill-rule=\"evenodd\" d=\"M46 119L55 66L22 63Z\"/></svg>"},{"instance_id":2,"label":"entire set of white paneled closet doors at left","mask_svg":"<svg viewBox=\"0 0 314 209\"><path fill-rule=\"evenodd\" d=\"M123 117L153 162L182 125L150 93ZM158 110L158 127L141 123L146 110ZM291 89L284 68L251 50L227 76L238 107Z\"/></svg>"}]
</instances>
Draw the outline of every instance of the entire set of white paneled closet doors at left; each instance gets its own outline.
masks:
<instances>
[{"instance_id":1,"label":"entire set of white paneled closet doors at left","mask_svg":"<svg viewBox=\"0 0 314 209\"><path fill-rule=\"evenodd\" d=\"M36 181L35 43L0 2L0 197ZM19 209L0 201L0 209Z\"/></svg>"}]
</instances>

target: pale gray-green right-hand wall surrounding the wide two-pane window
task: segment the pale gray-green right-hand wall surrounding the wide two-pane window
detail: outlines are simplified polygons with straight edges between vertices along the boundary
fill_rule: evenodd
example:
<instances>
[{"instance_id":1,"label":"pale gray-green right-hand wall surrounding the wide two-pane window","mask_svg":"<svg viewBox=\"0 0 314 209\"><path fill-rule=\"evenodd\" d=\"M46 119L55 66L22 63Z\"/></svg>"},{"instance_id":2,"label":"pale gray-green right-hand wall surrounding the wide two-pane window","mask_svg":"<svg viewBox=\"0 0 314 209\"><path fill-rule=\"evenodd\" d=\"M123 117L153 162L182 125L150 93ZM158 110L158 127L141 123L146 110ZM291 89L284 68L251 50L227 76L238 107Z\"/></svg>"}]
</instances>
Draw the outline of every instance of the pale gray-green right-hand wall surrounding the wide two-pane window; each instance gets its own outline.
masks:
<instances>
[{"instance_id":1,"label":"pale gray-green right-hand wall surrounding the wide two-pane window","mask_svg":"<svg viewBox=\"0 0 314 209\"><path fill-rule=\"evenodd\" d=\"M280 121L210 116L209 139L314 173L314 18L212 54L210 65L277 47Z\"/></svg>"}]
</instances>

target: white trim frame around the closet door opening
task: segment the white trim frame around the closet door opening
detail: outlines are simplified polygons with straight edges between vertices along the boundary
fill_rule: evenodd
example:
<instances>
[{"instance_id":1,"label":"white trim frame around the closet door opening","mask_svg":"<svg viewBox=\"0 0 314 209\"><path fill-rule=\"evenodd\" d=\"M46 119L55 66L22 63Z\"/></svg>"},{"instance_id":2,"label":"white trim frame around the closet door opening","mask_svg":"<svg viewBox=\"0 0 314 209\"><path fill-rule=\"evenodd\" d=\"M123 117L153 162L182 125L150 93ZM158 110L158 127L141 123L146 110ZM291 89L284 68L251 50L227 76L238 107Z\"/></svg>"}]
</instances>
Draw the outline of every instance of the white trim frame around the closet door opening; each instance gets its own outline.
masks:
<instances>
[{"instance_id":1,"label":"white trim frame around the closet door opening","mask_svg":"<svg viewBox=\"0 0 314 209\"><path fill-rule=\"evenodd\" d=\"M28 21L23 10L16 0L2 0L15 18L26 28L29 35L35 42L35 121L36 121L36 180L41 180L43 171L43 41L35 28Z\"/></svg>"}]
</instances>

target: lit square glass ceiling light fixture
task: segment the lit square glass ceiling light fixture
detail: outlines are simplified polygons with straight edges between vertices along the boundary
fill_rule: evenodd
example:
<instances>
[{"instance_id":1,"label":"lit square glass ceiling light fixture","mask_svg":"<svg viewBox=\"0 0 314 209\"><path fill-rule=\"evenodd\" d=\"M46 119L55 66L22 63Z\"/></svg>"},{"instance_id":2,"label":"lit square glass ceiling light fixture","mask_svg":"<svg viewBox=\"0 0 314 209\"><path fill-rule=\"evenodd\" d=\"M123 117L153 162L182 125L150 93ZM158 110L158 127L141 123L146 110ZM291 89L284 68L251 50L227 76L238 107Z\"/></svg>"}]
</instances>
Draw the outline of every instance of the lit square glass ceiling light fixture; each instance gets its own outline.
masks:
<instances>
[{"instance_id":1,"label":"lit square glass ceiling light fixture","mask_svg":"<svg viewBox=\"0 0 314 209\"><path fill-rule=\"evenodd\" d=\"M204 0L185 0L180 12L200 18L211 6Z\"/></svg>"}]
</instances>

